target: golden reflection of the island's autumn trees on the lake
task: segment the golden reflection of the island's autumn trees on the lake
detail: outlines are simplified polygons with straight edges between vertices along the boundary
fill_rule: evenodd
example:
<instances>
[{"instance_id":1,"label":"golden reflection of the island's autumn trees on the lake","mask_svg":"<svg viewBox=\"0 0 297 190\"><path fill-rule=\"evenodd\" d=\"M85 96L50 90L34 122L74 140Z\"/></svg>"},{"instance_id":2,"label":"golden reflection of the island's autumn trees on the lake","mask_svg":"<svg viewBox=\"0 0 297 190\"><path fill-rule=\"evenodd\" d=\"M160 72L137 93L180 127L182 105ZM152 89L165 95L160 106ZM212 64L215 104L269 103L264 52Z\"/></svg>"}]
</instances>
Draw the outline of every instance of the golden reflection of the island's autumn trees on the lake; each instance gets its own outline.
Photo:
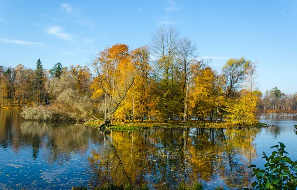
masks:
<instances>
[{"instance_id":1,"label":"golden reflection of the island's autumn trees on the lake","mask_svg":"<svg viewBox=\"0 0 297 190\"><path fill-rule=\"evenodd\" d=\"M104 146L89 158L92 186L115 183L177 187L181 181L224 181L233 188L249 186L247 166L256 157L253 140L259 130L150 129L104 134ZM210 184L211 183L211 184ZM91 185L91 184L90 184Z\"/></svg>"}]
</instances>

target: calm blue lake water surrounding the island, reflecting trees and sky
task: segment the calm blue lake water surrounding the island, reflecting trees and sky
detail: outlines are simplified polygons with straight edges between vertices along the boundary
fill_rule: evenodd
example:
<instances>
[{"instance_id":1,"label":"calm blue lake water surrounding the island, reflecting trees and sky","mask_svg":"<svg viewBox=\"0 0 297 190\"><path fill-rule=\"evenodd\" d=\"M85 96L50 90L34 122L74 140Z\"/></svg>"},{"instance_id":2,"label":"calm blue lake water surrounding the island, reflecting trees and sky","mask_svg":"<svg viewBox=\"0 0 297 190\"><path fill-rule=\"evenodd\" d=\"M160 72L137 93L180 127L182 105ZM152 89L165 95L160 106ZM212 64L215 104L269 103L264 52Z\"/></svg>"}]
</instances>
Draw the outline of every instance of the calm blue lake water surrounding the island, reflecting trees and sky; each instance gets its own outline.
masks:
<instances>
[{"instance_id":1,"label":"calm blue lake water surrounding the island, reflecting trees and sky","mask_svg":"<svg viewBox=\"0 0 297 190\"><path fill-rule=\"evenodd\" d=\"M201 181L205 189L249 186L247 166L284 142L297 159L297 116L262 114L275 125L254 130L150 129L104 134L83 126L22 121L19 110L0 110L0 189L71 189L150 184L174 189Z\"/></svg>"}]
</instances>

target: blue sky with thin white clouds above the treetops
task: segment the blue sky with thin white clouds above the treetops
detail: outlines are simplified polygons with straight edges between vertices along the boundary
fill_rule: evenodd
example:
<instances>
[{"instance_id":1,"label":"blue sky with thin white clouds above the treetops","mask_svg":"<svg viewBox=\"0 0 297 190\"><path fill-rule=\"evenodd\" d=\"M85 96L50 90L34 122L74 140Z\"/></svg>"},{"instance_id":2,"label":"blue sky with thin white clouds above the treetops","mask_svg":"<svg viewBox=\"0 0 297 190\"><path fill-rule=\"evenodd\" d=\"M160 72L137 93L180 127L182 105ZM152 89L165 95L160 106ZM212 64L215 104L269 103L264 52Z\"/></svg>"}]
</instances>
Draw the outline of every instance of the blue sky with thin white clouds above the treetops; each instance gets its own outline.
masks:
<instances>
[{"instance_id":1,"label":"blue sky with thin white clouds above the treetops","mask_svg":"<svg viewBox=\"0 0 297 190\"><path fill-rule=\"evenodd\" d=\"M297 0L0 0L0 65L88 65L107 45L149 45L168 26L217 71L245 56L263 93L297 92Z\"/></svg>"}]
</instances>

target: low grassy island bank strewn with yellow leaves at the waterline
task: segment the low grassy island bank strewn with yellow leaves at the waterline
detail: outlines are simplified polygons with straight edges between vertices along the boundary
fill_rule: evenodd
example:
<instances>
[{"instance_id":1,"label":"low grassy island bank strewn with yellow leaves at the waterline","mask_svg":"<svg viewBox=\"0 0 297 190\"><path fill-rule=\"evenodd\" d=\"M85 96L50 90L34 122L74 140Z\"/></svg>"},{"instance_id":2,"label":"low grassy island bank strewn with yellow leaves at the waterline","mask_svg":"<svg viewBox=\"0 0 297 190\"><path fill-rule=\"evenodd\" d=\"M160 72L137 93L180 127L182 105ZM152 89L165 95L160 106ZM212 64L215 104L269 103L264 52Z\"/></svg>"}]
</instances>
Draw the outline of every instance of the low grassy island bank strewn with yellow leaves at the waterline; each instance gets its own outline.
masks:
<instances>
[{"instance_id":1,"label":"low grassy island bank strewn with yellow leaves at the waterline","mask_svg":"<svg viewBox=\"0 0 297 190\"><path fill-rule=\"evenodd\" d=\"M99 128L103 119L100 120L92 120L84 123L84 126ZM230 126L227 122L219 121L218 123L214 121L199 121L199 120L189 120L189 121L163 121L158 122L154 120L149 120L144 123L129 123L129 121L124 122L113 122L110 125L106 125L104 129L112 129L112 130L142 130L153 127L166 127L166 128L188 128L188 127L200 127L200 128L239 128L239 126ZM258 123L253 126L240 126L242 128L249 127L268 127L265 123Z\"/></svg>"}]
</instances>

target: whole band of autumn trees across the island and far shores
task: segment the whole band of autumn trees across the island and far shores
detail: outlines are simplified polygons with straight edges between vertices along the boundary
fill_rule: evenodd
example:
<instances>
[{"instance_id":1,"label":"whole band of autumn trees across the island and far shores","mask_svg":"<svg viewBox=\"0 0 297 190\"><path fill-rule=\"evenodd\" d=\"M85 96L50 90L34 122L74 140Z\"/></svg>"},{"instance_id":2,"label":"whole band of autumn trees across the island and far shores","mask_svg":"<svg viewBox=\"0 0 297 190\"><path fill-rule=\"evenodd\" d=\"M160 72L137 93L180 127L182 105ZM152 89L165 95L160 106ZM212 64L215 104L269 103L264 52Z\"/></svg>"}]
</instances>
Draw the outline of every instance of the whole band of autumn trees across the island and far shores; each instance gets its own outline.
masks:
<instances>
[{"instance_id":1,"label":"whole band of autumn trees across the island and far shores","mask_svg":"<svg viewBox=\"0 0 297 190\"><path fill-rule=\"evenodd\" d=\"M104 118L103 124L206 118L252 124L257 109L297 110L297 93L257 90L256 67L245 57L230 58L216 71L189 38L159 28L150 46L107 46L89 66L56 63L48 70L41 59L35 70L0 66L0 107L24 107L28 119L63 115Z\"/></svg>"}]
</instances>

